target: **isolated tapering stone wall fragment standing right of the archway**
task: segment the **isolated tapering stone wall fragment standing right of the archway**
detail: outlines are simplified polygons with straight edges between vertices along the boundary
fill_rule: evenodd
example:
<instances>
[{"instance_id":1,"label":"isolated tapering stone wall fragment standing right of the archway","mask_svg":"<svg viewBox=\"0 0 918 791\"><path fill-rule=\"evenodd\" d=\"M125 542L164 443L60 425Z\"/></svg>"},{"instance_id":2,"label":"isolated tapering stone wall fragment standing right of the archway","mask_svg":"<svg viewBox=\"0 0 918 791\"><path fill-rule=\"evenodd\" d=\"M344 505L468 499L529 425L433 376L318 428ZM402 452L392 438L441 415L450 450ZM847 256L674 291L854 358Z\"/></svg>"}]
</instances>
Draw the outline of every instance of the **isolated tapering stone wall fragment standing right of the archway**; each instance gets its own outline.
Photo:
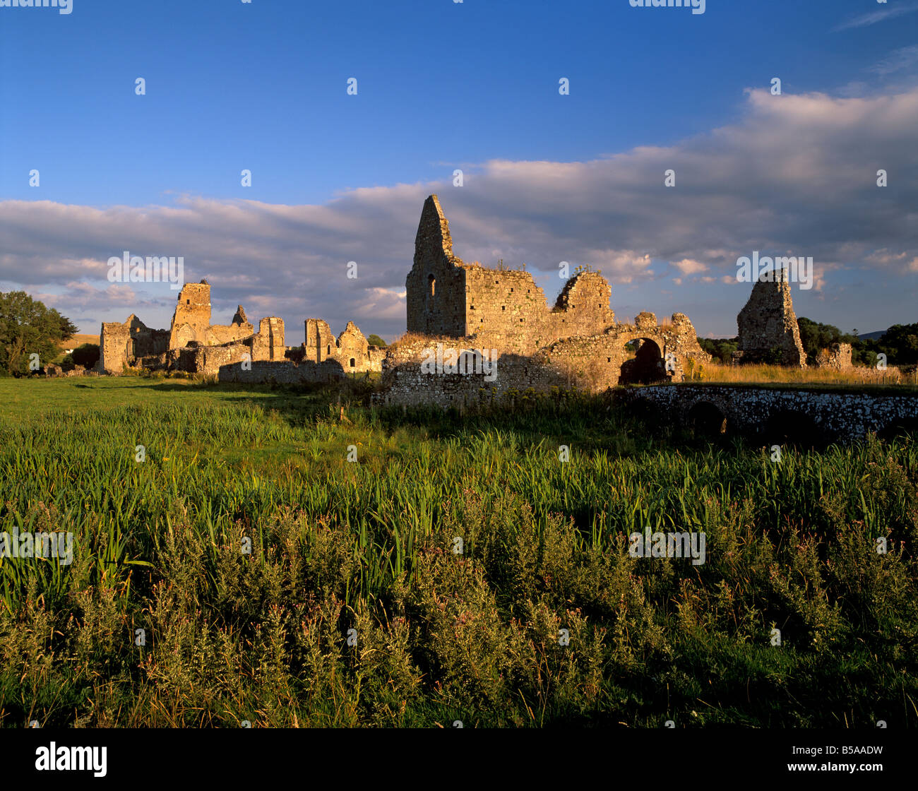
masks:
<instances>
[{"instance_id":1,"label":"isolated tapering stone wall fragment standing right of the archway","mask_svg":"<svg viewBox=\"0 0 918 791\"><path fill-rule=\"evenodd\" d=\"M734 358L739 362L778 362L806 368L786 270L762 275L736 323L739 351Z\"/></svg>"}]
</instances>

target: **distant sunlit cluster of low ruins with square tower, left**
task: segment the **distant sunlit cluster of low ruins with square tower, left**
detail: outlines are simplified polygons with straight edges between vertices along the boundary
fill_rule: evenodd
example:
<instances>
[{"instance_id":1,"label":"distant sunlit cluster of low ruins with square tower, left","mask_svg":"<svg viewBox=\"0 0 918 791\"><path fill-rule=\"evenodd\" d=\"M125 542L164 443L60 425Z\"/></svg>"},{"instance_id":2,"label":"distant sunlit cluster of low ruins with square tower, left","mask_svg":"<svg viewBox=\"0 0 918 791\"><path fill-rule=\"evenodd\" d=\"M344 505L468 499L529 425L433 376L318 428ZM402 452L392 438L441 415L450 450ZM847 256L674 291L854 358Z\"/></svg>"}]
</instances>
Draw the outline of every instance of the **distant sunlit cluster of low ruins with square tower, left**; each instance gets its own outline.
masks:
<instances>
[{"instance_id":1,"label":"distant sunlit cluster of low ruins with square tower, left","mask_svg":"<svg viewBox=\"0 0 918 791\"><path fill-rule=\"evenodd\" d=\"M263 318L256 332L242 306L228 325L210 323L210 284L185 284L170 329L150 329L140 318L103 323L99 373L127 368L184 371L228 382L328 382L347 373L380 371L385 350L370 346L353 321L335 339L319 318L306 320L306 341L288 347L284 320Z\"/></svg>"}]
</instances>

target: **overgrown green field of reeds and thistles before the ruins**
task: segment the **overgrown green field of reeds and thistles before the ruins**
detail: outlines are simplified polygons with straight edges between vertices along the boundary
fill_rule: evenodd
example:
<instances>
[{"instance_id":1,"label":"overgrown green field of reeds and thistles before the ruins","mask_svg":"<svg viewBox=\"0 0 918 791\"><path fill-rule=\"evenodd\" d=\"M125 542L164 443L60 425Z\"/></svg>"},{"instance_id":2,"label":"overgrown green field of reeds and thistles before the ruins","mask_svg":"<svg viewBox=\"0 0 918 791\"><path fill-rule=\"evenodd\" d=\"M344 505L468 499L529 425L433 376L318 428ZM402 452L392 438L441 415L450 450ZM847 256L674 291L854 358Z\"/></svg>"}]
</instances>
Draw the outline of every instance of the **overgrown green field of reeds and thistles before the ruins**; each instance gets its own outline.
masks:
<instances>
[{"instance_id":1,"label":"overgrown green field of reeds and thistles before the ruins","mask_svg":"<svg viewBox=\"0 0 918 791\"><path fill-rule=\"evenodd\" d=\"M0 561L0 724L918 726L914 437L360 396L0 379L0 530L74 551Z\"/></svg>"}]
</instances>

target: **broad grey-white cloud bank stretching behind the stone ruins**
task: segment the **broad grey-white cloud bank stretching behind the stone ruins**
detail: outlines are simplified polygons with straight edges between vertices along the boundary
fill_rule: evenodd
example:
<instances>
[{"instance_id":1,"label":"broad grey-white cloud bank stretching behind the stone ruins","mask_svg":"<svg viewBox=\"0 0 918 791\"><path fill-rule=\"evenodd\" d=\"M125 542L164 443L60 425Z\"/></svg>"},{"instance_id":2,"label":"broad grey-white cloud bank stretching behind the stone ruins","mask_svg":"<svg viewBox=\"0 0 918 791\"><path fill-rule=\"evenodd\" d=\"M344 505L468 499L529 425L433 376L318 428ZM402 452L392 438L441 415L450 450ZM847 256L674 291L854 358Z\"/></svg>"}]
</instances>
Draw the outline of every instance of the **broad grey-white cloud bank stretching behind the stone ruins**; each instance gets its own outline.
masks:
<instances>
[{"instance_id":1,"label":"broad grey-white cloud bank stretching behind the stone ruins","mask_svg":"<svg viewBox=\"0 0 918 791\"><path fill-rule=\"evenodd\" d=\"M87 330L132 310L163 327L175 292L155 284L112 290L106 261L125 250L183 256L185 279L206 276L213 286L215 321L229 321L241 303L252 321L285 318L288 343L302 340L302 322L312 317L335 331L353 319L367 334L391 337L404 329L405 277L430 193L441 197L457 255L485 265L526 262L550 303L562 261L602 270L613 308L629 284L646 287L642 299L660 298L653 261L672 262L665 277L705 273L729 284L736 259L752 251L812 256L813 291L828 288L824 262L866 272L882 265L890 277L918 271L918 184L908 175L918 171L918 90L869 98L756 90L744 110L730 126L666 148L589 162L484 162L462 189L362 188L319 206L189 195L170 206L6 201L0 281L53 295L65 315L78 309ZM880 167L890 173L886 189L876 185ZM677 172L671 189L668 168ZM347 278L349 261L358 263L355 280ZM680 301L688 293L680 289L666 310L689 312ZM897 298L904 306L907 295Z\"/></svg>"}]
</instances>

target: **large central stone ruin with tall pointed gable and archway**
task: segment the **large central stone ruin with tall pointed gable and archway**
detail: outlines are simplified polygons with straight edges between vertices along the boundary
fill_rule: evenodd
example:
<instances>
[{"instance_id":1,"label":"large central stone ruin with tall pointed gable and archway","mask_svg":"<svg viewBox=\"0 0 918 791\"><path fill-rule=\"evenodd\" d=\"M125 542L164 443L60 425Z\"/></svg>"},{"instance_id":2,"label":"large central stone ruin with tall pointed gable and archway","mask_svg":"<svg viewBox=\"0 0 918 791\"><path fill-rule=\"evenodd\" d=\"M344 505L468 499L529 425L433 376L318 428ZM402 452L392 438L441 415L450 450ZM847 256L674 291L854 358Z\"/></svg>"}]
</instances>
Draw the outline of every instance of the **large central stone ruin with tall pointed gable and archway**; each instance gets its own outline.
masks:
<instances>
[{"instance_id":1,"label":"large central stone ruin with tall pointed gable and archway","mask_svg":"<svg viewBox=\"0 0 918 791\"><path fill-rule=\"evenodd\" d=\"M406 291L409 332L386 353L383 403L449 406L531 387L599 392L629 382L679 382L687 369L711 360L683 313L663 324L653 313L617 322L610 284L599 273L572 277L549 307L531 273L463 262L453 255L436 195L421 212ZM435 347L438 360L458 361L460 370L428 373ZM496 362L494 373L486 372L485 356Z\"/></svg>"}]
</instances>

